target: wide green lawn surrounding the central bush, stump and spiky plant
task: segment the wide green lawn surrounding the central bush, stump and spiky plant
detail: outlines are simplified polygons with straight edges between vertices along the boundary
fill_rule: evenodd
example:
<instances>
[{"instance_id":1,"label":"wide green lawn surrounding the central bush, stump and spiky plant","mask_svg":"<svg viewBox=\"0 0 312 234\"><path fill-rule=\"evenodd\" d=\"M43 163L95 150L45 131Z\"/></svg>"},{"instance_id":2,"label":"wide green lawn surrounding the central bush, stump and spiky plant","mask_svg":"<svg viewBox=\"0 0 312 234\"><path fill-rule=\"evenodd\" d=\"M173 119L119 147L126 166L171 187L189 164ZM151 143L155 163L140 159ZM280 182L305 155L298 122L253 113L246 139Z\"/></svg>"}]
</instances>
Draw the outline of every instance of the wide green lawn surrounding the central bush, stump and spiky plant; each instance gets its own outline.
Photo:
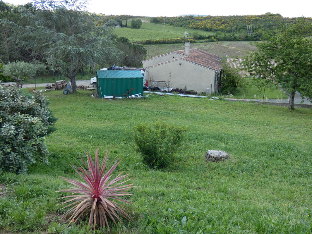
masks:
<instances>
[{"instance_id":1,"label":"wide green lawn surrounding the central bush, stump and spiky plant","mask_svg":"<svg viewBox=\"0 0 312 234\"><path fill-rule=\"evenodd\" d=\"M58 118L46 137L50 163L0 175L8 190L0 195L2 232L87 233L86 221L65 227L56 200L65 194L54 191L70 187L59 176L78 178L68 163L99 147L100 157L110 149L110 161L121 158L115 174L130 173L136 185L127 197L134 204L125 205L132 221L112 233L311 233L312 110L179 96L47 95ZM188 126L178 160L165 170L142 164L125 133L157 120ZM208 149L230 159L206 163Z\"/></svg>"}]
</instances>

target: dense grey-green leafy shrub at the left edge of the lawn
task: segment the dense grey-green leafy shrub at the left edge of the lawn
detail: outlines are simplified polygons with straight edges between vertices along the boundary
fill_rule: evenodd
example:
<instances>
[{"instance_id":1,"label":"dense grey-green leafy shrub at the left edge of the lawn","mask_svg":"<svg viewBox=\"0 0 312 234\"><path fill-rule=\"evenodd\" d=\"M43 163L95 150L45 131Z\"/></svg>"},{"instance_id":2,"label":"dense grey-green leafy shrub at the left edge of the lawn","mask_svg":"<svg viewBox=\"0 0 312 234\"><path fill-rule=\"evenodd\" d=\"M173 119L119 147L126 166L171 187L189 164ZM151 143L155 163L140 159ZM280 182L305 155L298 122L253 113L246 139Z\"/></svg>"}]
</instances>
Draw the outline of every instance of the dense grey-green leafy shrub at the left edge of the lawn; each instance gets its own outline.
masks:
<instances>
[{"instance_id":1,"label":"dense grey-green leafy shrub at the left edge of the lawn","mask_svg":"<svg viewBox=\"0 0 312 234\"><path fill-rule=\"evenodd\" d=\"M55 130L56 118L42 92L26 97L0 86L0 102L0 170L21 173L36 160L47 162L44 136Z\"/></svg>"}]
</instances>

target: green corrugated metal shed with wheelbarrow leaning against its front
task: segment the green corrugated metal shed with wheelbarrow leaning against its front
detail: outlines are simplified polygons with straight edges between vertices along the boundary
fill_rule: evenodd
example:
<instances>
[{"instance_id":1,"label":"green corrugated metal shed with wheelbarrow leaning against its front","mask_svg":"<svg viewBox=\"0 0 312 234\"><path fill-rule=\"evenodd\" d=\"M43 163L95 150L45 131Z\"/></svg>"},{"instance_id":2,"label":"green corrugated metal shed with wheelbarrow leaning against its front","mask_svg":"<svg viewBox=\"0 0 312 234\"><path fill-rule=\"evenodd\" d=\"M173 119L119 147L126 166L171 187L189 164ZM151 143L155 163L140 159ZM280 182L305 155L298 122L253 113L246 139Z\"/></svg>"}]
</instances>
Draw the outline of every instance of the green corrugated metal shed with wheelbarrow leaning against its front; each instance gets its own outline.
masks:
<instances>
[{"instance_id":1,"label":"green corrugated metal shed with wheelbarrow leaning against its front","mask_svg":"<svg viewBox=\"0 0 312 234\"><path fill-rule=\"evenodd\" d=\"M97 92L100 98L107 96L143 96L143 74L141 71L96 71Z\"/></svg>"}]
</instances>

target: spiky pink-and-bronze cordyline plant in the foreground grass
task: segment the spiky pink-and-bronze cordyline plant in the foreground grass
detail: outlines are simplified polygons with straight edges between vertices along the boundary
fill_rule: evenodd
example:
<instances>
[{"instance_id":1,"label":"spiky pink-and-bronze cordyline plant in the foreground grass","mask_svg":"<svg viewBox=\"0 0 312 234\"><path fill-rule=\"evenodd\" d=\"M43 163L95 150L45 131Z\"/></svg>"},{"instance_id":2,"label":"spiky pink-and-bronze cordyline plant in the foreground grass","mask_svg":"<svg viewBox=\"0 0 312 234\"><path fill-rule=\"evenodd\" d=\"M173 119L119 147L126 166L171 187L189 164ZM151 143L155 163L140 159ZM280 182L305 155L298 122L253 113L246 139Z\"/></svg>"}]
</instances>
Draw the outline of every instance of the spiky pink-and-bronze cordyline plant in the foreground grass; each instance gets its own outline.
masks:
<instances>
[{"instance_id":1,"label":"spiky pink-and-bronze cordyline plant in the foreground grass","mask_svg":"<svg viewBox=\"0 0 312 234\"><path fill-rule=\"evenodd\" d=\"M95 153L95 163L93 163L90 153L85 153L85 155L87 156L87 164L80 156L84 166L78 162L77 163L79 164L79 167L74 164L71 165L71 167L74 168L74 170L84 179L84 182L61 177L64 178L64 180L68 183L71 183L75 186L73 188L58 191L72 193L70 196L61 197L70 198L61 205L66 203L70 204L61 209L70 207L70 209L64 214L64 217L67 217L71 214L71 222L76 222L80 217L83 217L90 212L89 225L91 226L93 223L94 230L95 227L99 224L100 227L107 226L108 230L110 231L107 220L108 217L115 224L115 218L122 223L118 213L126 219L130 220L129 215L126 213L126 208L113 200L128 202L120 199L119 197L133 195L131 193L125 192L126 190L130 189L133 184L124 185L125 182L130 180L124 180L129 176L129 174L122 175L121 172L117 177L112 178L112 172L120 163L120 158L115 158L108 166L110 169L105 170L109 156L108 151L105 153L101 167L99 164L98 149L96 149Z\"/></svg>"}]
</instances>

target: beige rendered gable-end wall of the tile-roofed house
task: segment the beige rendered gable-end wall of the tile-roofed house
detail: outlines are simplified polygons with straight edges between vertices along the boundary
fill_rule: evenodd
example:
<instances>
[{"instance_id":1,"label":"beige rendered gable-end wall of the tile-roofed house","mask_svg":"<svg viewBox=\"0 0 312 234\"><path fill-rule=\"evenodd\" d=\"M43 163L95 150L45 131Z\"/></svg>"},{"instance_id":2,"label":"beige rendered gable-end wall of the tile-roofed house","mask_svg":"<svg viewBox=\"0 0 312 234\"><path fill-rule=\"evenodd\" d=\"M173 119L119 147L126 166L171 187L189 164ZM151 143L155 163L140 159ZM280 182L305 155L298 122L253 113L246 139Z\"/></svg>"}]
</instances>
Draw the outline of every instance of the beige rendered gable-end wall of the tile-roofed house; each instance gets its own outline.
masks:
<instances>
[{"instance_id":1,"label":"beige rendered gable-end wall of the tile-roofed house","mask_svg":"<svg viewBox=\"0 0 312 234\"><path fill-rule=\"evenodd\" d=\"M150 67L146 70L148 71L146 78L149 80L167 81L169 73L171 73L170 86L173 88L184 89L186 86L187 90L194 90L197 93L206 92L207 88L212 88L212 93L214 90L216 72L183 59ZM156 85L163 86L160 82Z\"/></svg>"}]
</instances>

